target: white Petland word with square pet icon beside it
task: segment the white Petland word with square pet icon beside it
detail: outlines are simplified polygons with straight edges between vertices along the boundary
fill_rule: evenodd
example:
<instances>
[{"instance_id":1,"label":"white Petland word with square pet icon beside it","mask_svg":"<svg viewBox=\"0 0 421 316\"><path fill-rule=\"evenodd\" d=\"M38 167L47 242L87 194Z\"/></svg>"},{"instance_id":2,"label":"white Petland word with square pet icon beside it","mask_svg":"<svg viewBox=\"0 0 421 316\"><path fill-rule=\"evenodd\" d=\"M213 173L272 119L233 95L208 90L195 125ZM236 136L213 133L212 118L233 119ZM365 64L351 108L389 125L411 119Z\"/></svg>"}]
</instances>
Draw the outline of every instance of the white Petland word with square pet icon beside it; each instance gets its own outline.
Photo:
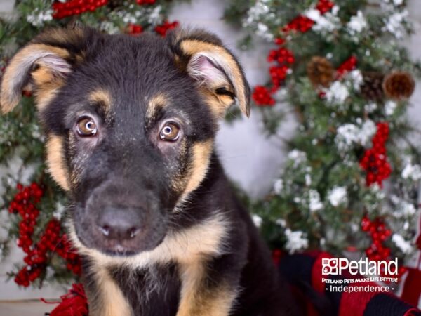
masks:
<instances>
[{"instance_id":1,"label":"white Petland word with square pet icon beside it","mask_svg":"<svg viewBox=\"0 0 421 316\"><path fill-rule=\"evenodd\" d=\"M393 261L369 261L361 258L359 261L347 258L322 258L322 275L342 275L347 271L351 275L398 275L398 258Z\"/></svg>"}]
</instances>

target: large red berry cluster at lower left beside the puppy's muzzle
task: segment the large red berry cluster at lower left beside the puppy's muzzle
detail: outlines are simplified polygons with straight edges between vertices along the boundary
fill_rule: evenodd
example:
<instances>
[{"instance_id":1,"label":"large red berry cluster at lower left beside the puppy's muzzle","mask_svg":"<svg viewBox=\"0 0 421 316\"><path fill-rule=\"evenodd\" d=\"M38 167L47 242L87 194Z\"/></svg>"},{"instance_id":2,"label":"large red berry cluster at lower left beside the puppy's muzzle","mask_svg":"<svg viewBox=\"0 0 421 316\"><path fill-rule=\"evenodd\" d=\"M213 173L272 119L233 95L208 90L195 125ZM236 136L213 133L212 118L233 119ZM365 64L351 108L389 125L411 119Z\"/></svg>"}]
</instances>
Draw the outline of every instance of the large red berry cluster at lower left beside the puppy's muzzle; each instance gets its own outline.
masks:
<instances>
[{"instance_id":1,"label":"large red berry cluster at lower left beside the puppy's muzzle","mask_svg":"<svg viewBox=\"0 0 421 316\"><path fill-rule=\"evenodd\" d=\"M58 256L67 261L67 269L76 275L81 273L81 261L79 256L72 251L72 247L65 234L60 235L60 222L56 219L50 220L46 230L39 237L39 242L34 244L32 236L34 227L39 216L36 204L44 195L43 190L37 183L28 187L18 184L18 193L11 202L8 211L17 213L22 220L19 223L18 247L22 248L26 256L23 259L26 266L15 276L15 282L23 287L28 287L30 282L41 276L48 261L48 251L55 252Z\"/></svg>"}]
</instances>

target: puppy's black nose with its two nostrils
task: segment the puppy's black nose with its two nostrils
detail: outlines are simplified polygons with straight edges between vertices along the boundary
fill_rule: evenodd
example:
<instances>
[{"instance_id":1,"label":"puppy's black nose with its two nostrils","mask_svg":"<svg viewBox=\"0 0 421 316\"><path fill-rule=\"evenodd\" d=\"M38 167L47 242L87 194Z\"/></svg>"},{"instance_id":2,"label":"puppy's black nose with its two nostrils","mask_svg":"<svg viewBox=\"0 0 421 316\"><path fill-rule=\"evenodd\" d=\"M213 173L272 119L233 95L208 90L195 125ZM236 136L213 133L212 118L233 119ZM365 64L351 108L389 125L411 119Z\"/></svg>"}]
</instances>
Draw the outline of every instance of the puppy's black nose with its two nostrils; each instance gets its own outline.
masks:
<instances>
[{"instance_id":1,"label":"puppy's black nose with its two nostrils","mask_svg":"<svg viewBox=\"0 0 421 316\"><path fill-rule=\"evenodd\" d=\"M98 228L107 239L133 239L140 232L140 215L136 209L107 207L98 220Z\"/></svg>"}]
</instances>

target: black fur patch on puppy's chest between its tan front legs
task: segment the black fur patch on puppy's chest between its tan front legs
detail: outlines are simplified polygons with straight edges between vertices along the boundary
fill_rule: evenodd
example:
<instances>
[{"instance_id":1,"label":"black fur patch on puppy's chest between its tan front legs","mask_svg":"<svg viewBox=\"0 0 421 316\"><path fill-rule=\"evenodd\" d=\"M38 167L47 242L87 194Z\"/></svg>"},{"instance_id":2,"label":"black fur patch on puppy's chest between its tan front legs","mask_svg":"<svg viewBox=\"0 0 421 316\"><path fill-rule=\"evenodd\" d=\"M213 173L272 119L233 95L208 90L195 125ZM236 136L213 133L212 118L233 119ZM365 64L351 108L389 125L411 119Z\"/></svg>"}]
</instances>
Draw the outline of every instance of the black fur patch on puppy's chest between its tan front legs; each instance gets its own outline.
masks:
<instances>
[{"instance_id":1,"label":"black fur patch on puppy's chest between its tan front legs","mask_svg":"<svg viewBox=\"0 0 421 316\"><path fill-rule=\"evenodd\" d=\"M110 272L134 316L176 315L181 288L177 265L154 265L136 271L114 268Z\"/></svg>"}]
</instances>

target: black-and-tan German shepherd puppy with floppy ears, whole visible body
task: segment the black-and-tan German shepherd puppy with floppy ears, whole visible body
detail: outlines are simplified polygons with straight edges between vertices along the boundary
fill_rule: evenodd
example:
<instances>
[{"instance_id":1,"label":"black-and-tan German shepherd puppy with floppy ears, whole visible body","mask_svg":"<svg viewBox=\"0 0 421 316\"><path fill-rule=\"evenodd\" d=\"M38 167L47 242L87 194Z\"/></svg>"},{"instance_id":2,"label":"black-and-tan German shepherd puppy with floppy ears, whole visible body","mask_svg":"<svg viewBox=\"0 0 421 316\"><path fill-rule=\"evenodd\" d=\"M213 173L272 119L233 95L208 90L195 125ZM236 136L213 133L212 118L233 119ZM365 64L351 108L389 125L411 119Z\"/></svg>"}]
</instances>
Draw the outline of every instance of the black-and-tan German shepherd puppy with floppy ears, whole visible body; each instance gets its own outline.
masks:
<instances>
[{"instance_id":1,"label":"black-and-tan German shepherd puppy with floppy ears, whole visible body","mask_svg":"<svg viewBox=\"0 0 421 316\"><path fill-rule=\"evenodd\" d=\"M250 88L220 39L50 29L1 82L1 110L34 93L46 161L68 192L93 316L295 315L214 150Z\"/></svg>"}]
</instances>

